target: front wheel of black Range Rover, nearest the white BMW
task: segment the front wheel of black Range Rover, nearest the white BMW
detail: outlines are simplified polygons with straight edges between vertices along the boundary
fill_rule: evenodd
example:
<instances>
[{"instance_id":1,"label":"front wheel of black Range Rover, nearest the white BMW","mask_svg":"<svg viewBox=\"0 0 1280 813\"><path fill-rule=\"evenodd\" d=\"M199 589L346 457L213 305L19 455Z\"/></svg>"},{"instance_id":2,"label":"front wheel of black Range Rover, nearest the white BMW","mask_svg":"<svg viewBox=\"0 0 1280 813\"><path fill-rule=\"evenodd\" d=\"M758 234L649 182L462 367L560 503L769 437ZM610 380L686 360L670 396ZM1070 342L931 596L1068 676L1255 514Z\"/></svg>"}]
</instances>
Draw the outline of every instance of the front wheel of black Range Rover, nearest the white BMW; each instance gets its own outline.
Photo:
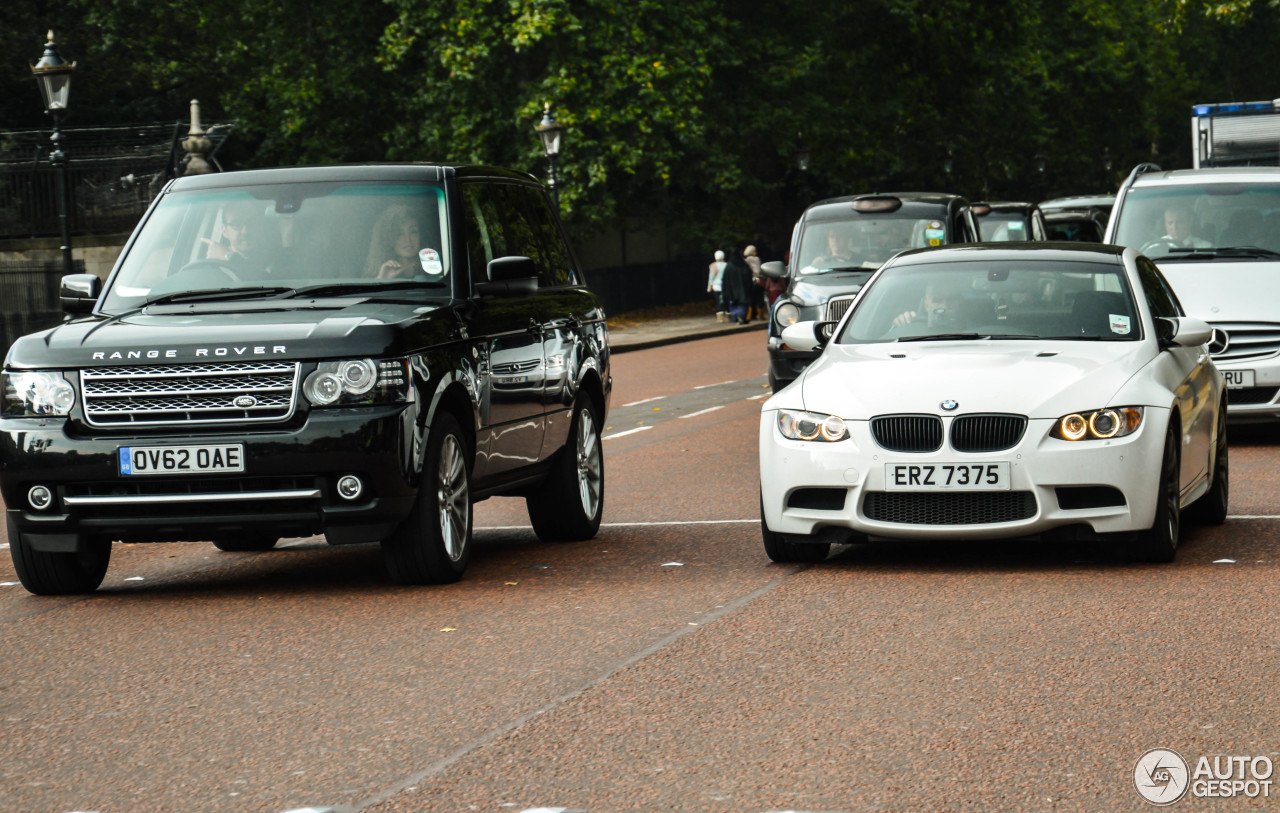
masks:
<instances>
[{"instance_id":1,"label":"front wheel of black Range Rover, nearest the white BMW","mask_svg":"<svg viewBox=\"0 0 1280 813\"><path fill-rule=\"evenodd\" d=\"M471 453L458 421L436 415L426 440L417 499L383 540L383 563L397 584L449 584L471 561Z\"/></svg>"}]
</instances>

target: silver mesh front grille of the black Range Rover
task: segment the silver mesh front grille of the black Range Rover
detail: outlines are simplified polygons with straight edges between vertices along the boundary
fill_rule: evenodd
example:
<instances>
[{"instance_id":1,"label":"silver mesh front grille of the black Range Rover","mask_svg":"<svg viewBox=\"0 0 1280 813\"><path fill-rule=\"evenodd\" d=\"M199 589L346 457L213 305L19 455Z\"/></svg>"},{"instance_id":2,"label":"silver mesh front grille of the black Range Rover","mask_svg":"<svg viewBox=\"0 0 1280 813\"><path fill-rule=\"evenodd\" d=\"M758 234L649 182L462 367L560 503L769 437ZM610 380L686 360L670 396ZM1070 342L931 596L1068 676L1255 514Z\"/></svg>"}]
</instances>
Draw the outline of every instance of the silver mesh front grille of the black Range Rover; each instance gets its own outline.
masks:
<instances>
[{"instance_id":1,"label":"silver mesh front grille of the black Range Rover","mask_svg":"<svg viewBox=\"0 0 1280 813\"><path fill-rule=\"evenodd\" d=\"M221 364L81 370L84 419L95 426L280 421L293 415L298 364Z\"/></svg>"}]
</instances>

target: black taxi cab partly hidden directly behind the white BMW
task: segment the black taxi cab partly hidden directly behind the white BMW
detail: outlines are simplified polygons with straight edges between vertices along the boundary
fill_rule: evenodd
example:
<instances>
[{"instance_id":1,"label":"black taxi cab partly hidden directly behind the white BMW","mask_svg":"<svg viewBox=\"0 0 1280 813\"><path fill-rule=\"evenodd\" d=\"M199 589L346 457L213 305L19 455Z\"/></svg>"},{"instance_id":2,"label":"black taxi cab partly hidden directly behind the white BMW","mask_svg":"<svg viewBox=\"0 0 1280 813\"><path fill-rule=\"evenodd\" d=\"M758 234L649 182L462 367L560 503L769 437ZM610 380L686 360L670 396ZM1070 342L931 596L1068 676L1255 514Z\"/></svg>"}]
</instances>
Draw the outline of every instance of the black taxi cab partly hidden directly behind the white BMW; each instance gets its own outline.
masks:
<instances>
[{"instance_id":1,"label":"black taxi cab partly hidden directly behind the white BMW","mask_svg":"<svg viewBox=\"0 0 1280 813\"><path fill-rule=\"evenodd\" d=\"M797 321L837 321L863 283L908 248L978 242L969 201L941 192L833 197L812 204L791 234L790 265L765 262L760 273L786 279L769 318L769 385L777 392L818 357L782 342Z\"/></svg>"}]
</instances>

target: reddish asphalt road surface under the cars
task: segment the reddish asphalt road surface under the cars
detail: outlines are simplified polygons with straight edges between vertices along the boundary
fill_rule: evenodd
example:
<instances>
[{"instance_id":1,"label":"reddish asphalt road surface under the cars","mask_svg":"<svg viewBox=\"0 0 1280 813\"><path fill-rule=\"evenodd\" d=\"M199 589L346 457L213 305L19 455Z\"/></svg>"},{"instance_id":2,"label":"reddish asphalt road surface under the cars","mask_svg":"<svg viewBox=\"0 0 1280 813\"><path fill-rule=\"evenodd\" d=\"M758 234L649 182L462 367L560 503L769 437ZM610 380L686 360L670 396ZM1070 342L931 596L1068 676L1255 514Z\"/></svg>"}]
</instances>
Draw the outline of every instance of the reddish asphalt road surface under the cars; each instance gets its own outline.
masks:
<instances>
[{"instance_id":1,"label":"reddish asphalt road surface under the cars","mask_svg":"<svg viewBox=\"0 0 1280 813\"><path fill-rule=\"evenodd\" d=\"M690 394L763 373L758 333L616 356L605 434L653 429L605 440L599 538L541 544L489 501L477 526L521 527L480 530L457 585L305 542L0 586L0 809L1110 812L1147 809L1151 748L1280 759L1280 431L1233 431L1233 519L1171 566L996 542L780 566L754 384Z\"/></svg>"}]
</instances>

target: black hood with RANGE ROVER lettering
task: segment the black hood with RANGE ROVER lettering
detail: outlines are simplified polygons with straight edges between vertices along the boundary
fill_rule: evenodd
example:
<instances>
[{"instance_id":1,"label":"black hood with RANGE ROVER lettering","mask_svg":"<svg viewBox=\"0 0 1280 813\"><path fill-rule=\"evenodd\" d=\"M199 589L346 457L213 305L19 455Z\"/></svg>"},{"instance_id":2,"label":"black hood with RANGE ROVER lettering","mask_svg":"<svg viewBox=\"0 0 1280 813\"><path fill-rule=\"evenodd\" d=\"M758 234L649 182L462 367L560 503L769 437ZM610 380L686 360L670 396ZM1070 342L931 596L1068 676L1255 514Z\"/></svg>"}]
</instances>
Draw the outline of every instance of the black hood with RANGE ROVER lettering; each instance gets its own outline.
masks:
<instances>
[{"instance_id":1,"label":"black hood with RANGE ROVER lettering","mask_svg":"<svg viewBox=\"0 0 1280 813\"><path fill-rule=\"evenodd\" d=\"M177 312L175 312L177 311ZM69 369L131 364L334 358L398 352L397 325L435 311L416 330L449 330L444 311L424 303L349 300L320 315L315 309L201 311L148 309L124 318L86 319L23 337L9 348L12 367ZM420 343L421 335L415 337Z\"/></svg>"}]
</instances>

